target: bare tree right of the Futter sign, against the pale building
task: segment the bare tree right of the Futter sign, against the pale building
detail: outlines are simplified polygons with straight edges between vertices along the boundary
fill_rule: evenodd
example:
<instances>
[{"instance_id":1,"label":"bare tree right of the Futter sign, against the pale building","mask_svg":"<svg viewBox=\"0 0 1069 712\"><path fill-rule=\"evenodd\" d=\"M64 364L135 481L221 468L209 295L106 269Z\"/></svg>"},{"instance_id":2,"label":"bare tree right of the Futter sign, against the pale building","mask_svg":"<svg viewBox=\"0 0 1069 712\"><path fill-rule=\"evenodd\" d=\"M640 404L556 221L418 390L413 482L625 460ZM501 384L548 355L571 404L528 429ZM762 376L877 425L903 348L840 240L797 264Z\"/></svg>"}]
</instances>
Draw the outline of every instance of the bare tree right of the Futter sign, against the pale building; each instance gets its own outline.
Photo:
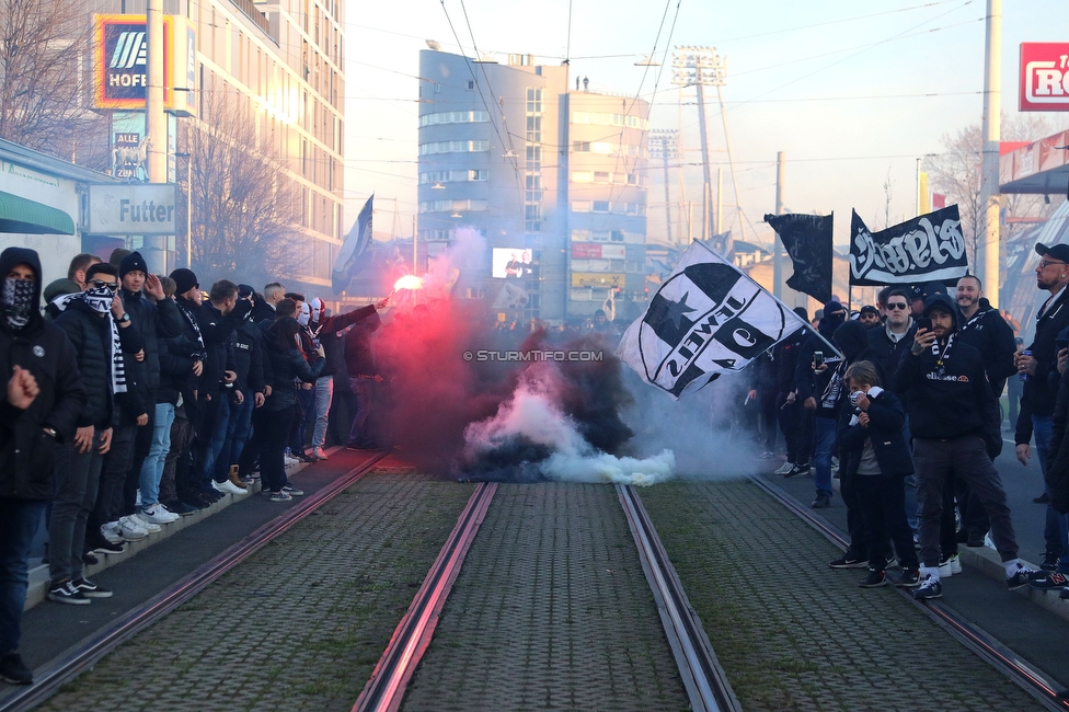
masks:
<instances>
[{"instance_id":1,"label":"bare tree right of the Futter sign, against the pale building","mask_svg":"<svg viewBox=\"0 0 1069 712\"><path fill-rule=\"evenodd\" d=\"M226 90L204 97L203 115L187 129L194 269L203 282L238 276L251 284L299 273L301 196L285 159L257 131L248 97Z\"/></svg>"}]
</instances>

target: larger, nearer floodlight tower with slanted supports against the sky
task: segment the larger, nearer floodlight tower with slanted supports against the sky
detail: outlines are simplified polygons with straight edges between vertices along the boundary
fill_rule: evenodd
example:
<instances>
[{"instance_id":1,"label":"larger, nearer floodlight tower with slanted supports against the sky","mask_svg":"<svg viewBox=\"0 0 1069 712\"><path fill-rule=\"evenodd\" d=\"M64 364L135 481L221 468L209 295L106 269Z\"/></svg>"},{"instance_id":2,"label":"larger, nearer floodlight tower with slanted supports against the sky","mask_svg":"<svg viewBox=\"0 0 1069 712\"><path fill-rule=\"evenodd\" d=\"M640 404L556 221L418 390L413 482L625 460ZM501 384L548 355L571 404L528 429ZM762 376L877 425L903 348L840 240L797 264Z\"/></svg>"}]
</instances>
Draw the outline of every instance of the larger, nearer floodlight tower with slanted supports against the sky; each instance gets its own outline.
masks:
<instances>
[{"instance_id":1,"label":"larger, nearer floodlight tower with slanted supports against the sky","mask_svg":"<svg viewBox=\"0 0 1069 712\"><path fill-rule=\"evenodd\" d=\"M724 112L724 85L727 84L727 58L716 54L716 47L705 46L677 46L671 56L671 82L680 88L694 87L698 90L698 128L701 131L702 148L702 171L704 176L704 190L702 203L705 206L705 215L702 223L702 239L710 238L709 231L713 225L712 220L712 176L709 168L709 141L705 136L705 92L704 87L716 88L716 99L720 101L721 119L724 123L724 142L727 145L727 161L732 169L732 186L735 190L736 209L742 210L738 205L738 181L735 177L735 161L732 158L732 139L727 133L727 114ZM745 239L742 216L738 220L739 236Z\"/></svg>"}]
</instances>

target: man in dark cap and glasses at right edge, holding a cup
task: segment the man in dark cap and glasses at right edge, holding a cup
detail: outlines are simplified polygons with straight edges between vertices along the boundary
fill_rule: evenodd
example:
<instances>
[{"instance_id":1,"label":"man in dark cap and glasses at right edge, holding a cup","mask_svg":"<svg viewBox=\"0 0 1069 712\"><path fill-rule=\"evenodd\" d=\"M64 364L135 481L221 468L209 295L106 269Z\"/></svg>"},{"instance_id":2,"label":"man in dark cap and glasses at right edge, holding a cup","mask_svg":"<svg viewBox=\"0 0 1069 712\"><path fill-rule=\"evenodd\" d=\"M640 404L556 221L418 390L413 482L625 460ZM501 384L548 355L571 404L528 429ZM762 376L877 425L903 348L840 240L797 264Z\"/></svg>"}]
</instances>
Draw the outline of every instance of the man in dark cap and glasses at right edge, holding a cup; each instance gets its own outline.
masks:
<instances>
[{"instance_id":1,"label":"man in dark cap and glasses at right edge, holding a cup","mask_svg":"<svg viewBox=\"0 0 1069 712\"><path fill-rule=\"evenodd\" d=\"M1049 482L1047 481L1048 451L1050 435L1054 430L1054 409L1058 392L1058 375L1056 369L1055 341L1058 333L1069 326L1069 244L1046 246L1036 244L1035 251L1041 255L1036 265L1036 287L1050 292L1050 296L1036 313L1035 338L1026 351L1014 356L1018 372L1024 381L1024 394L1021 397L1021 410L1018 414L1016 433L1013 440L1016 444L1016 456L1021 464L1027 464L1032 458L1028 446L1035 436L1036 453L1039 456L1039 469L1043 472L1044 491L1038 497L1039 504L1047 505L1046 525L1043 538L1046 551L1043 555L1043 566L1053 569L1058 558L1066 552L1067 531L1069 522L1065 515L1059 515L1049 504ZM1054 380L1054 382L1051 382Z\"/></svg>"}]
</instances>

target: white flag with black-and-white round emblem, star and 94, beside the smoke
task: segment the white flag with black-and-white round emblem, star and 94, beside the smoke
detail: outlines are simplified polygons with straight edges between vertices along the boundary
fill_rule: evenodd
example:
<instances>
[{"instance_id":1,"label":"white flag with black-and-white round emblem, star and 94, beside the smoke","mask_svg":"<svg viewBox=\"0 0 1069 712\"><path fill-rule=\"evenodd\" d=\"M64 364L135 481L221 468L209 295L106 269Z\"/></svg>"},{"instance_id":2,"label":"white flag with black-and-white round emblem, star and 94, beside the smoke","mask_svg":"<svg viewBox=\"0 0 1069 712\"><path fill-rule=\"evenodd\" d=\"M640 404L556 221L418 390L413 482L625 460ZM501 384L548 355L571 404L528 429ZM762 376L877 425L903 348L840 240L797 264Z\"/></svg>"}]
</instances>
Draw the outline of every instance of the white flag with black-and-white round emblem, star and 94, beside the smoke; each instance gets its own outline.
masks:
<instances>
[{"instance_id":1,"label":"white flag with black-and-white round emblem, star and 94, beside the smoke","mask_svg":"<svg viewBox=\"0 0 1069 712\"><path fill-rule=\"evenodd\" d=\"M620 357L673 399L754 358L807 326L719 254L692 242L628 328Z\"/></svg>"}]
</instances>

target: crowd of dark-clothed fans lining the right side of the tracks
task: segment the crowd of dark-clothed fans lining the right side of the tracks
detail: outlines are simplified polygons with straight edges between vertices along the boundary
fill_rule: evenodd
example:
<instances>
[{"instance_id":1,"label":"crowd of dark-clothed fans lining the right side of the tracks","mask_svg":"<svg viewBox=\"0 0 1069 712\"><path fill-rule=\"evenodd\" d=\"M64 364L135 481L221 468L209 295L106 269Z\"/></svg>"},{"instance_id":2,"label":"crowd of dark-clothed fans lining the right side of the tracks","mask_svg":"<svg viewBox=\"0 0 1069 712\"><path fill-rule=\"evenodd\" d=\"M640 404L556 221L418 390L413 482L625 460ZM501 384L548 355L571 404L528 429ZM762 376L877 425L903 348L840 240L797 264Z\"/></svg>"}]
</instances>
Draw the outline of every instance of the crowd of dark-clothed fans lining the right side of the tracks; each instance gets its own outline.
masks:
<instances>
[{"instance_id":1,"label":"crowd of dark-clothed fans lining the right side of the tracks","mask_svg":"<svg viewBox=\"0 0 1069 712\"><path fill-rule=\"evenodd\" d=\"M999 552L1007 586L1061 589L1069 599L1069 245L1036 245L1036 286L1047 292L1027 347L1020 324L966 276L947 288L887 287L852 317L825 305L804 330L763 354L747 402L758 404L762 458L786 444L784 478L813 474L814 508L830 506L834 456L850 546L834 569L867 569L862 587L942 596L961 572L958 546ZM808 321L805 310L795 310ZM1008 386L1009 384L1009 386ZM993 466L1002 450L1000 399L1009 390L1015 455L1032 457L1047 507L1039 570L1018 558L1007 496Z\"/></svg>"}]
</instances>

